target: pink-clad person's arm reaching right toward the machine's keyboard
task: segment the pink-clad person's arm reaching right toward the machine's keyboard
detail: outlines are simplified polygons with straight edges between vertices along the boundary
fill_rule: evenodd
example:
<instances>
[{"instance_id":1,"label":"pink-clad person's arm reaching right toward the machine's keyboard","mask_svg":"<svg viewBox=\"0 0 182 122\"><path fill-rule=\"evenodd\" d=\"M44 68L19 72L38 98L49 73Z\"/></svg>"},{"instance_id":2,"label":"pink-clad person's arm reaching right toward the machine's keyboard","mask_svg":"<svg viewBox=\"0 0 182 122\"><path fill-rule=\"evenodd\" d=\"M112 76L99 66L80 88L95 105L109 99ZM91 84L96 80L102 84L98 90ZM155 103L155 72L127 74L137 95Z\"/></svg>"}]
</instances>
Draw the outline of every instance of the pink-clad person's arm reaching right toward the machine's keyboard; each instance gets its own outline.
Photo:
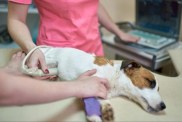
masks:
<instances>
[{"instance_id":1,"label":"pink-clad person's arm reaching right toward the machine's keyboard","mask_svg":"<svg viewBox=\"0 0 182 122\"><path fill-rule=\"evenodd\" d=\"M99 3L98 17L100 24L103 25L110 32L116 34L121 40L127 42L137 42L139 40L139 38L123 32L113 22L112 18L109 16L109 14L107 13L107 11L105 10L104 6L101 3Z\"/></svg>"}]
</instances>

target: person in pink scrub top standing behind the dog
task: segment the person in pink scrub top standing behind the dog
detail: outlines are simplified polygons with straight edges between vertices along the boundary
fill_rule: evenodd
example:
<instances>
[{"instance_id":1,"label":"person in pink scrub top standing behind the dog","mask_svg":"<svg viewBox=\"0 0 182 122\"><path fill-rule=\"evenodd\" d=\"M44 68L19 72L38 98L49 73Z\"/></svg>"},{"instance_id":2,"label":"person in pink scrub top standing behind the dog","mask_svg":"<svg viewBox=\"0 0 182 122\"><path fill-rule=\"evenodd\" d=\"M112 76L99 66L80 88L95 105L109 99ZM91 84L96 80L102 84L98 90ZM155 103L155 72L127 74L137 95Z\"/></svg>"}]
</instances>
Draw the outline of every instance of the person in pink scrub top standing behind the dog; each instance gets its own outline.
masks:
<instances>
[{"instance_id":1,"label":"person in pink scrub top standing behind the dog","mask_svg":"<svg viewBox=\"0 0 182 122\"><path fill-rule=\"evenodd\" d=\"M36 45L26 25L28 7L32 0L8 0L8 29L15 42L28 53ZM97 56L103 56L99 22L124 41L138 38L121 31L106 13L99 0L34 0L39 14L40 27L37 45L73 47ZM35 51L27 65L49 73L40 50Z\"/></svg>"}]
</instances>

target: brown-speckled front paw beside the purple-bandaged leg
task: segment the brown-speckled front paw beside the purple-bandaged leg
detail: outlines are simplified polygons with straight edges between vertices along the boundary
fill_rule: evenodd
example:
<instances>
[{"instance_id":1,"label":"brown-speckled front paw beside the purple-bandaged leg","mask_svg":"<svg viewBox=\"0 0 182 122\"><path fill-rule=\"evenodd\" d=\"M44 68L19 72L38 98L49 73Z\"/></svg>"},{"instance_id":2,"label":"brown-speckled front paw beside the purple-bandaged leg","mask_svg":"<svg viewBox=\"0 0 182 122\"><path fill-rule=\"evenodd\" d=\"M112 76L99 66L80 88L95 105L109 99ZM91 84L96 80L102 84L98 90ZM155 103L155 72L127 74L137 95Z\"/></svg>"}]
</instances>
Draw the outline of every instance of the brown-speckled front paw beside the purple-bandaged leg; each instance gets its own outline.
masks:
<instances>
[{"instance_id":1,"label":"brown-speckled front paw beside the purple-bandaged leg","mask_svg":"<svg viewBox=\"0 0 182 122\"><path fill-rule=\"evenodd\" d=\"M103 122L113 122L114 121L114 111L110 103L105 103L102 105L102 121Z\"/></svg>"}]
</instances>

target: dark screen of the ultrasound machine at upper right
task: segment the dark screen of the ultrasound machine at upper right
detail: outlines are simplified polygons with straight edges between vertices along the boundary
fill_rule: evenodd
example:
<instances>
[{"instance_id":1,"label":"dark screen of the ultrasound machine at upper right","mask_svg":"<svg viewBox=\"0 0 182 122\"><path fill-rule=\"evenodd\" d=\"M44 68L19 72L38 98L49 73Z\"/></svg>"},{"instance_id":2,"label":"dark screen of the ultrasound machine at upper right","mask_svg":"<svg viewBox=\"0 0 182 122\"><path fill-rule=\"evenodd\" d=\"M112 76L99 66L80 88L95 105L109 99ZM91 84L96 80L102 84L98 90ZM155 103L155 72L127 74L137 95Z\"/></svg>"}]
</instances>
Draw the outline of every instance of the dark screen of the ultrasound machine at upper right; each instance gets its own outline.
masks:
<instances>
[{"instance_id":1,"label":"dark screen of the ultrasound machine at upper right","mask_svg":"<svg viewBox=\"0 0 182 122\"><path fill-rule=\"evenodd\" d=\"M136 26L168 36L179 36L180 0L136 1Z\"/></svg>"}]
</instances>

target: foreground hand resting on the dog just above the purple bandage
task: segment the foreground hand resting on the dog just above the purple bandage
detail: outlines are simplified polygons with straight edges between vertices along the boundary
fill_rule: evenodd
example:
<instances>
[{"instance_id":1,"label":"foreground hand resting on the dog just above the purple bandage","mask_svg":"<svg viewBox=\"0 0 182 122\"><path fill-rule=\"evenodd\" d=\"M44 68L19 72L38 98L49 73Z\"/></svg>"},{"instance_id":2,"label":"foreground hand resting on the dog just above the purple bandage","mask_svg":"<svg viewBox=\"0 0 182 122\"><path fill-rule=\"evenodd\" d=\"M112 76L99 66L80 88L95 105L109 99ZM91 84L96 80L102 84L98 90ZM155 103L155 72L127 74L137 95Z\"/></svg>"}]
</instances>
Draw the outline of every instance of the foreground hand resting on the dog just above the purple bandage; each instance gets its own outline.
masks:
<instances>
[{"instance_id":1,"label":"foreground hand resting on the dog just above the purple bandage","mask_svg":"<svg viewBox=\"0 0 182 122\"><path fill-rule=\"evenodd\" d=\"M107 79L92 76L96 73L96 69L89 70L77 79L78 90L80 98L85 97L107 97L107 91L109 90L109 83Z\"/></svg>"}]
</instances>

